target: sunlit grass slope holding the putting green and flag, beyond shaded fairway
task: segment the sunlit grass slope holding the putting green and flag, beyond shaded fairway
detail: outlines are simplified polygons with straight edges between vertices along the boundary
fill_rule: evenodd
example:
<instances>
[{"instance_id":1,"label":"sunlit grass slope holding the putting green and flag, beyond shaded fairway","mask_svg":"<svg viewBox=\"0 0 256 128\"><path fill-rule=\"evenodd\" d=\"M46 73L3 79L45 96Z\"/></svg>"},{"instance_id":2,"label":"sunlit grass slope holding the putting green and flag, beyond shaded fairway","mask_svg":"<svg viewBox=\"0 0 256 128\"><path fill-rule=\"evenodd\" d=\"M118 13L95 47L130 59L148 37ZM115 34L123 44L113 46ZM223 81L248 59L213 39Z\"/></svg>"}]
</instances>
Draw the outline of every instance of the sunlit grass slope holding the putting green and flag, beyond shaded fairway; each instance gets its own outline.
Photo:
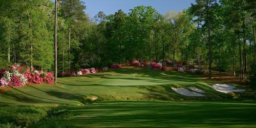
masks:
<instances>
[{"instance_id":1,"label":"sunlit grass slope holding the putting green and flag, beyond shaded fairway","mask_svg":"<svg viewBox=\"0 0 256 128\"><path fill-rule=\"evenodd\" d=\"M81 104L87 96L102 100L193 100L228 97L198 76L151 69L117 69L86 76L59 78L61 86L27 86L0 93L0 103L21 105ZM205 97L187 97L171 87L194 86Z\"/></svg>"}]
</instances>

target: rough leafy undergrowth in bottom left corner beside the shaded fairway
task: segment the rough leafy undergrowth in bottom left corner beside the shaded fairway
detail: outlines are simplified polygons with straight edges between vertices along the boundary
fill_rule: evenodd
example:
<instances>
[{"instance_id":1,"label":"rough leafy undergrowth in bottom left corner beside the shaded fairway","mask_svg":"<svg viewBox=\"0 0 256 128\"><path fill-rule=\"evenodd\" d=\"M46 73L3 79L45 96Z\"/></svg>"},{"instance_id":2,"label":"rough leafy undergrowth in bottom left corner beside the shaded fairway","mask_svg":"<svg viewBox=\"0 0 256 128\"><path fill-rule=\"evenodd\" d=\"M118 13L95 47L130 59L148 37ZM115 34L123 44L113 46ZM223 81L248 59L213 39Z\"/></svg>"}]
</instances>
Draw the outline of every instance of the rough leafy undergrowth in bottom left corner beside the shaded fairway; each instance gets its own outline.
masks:
<instances>
[{"instance_id":1,"label":"rough leafy undergrowth in bottom left corner beside the shaded fairway","mask_svg":"<svg viewBox=\"0 0 256 128\"><path fill-rule=\"evenodd\" d=\"M72 116L65 106L0 106L0 127L67 127L58 121Z\"/></svg>"}]
</instances>

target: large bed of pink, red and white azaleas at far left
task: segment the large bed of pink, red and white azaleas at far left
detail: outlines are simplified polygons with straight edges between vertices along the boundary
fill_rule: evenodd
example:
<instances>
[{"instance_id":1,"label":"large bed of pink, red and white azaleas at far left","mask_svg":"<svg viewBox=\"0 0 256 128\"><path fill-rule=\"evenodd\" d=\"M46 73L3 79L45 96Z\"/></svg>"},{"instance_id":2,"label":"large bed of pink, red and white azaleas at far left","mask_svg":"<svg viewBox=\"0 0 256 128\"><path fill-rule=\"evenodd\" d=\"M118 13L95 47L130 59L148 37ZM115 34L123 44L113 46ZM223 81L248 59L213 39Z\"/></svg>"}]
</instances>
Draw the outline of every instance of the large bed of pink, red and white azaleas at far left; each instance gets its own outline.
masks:
<instances>
[{"instance_id":1,"label":"large bed of pink, red and white azaleas at far left","mask_svg":"<svg viewBox=\"0 0 256 128\"><path fill-rule=\"evenodd\" d=\"M4 72L4 73L3 73ZM0 86L21 87L28 82L54 84L54 76L51 72L41 72L15 63L7 70L1 70Z\"/></svg>"}]
</instances>

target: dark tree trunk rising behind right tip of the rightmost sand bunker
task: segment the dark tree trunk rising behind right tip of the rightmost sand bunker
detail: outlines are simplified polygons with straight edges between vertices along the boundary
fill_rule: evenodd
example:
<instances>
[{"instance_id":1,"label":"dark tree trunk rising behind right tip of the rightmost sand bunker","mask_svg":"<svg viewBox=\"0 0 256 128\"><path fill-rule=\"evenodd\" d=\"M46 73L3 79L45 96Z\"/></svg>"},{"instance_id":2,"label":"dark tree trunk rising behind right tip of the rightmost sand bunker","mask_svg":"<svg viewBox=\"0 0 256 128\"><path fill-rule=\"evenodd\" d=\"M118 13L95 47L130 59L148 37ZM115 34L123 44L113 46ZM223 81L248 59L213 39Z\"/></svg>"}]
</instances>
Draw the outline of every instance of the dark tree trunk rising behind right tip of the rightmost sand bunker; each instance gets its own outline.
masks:
<instances>
[{"instance_id":1,"label":"dark tree trunk rising behind right tip of the rightmost sand bunker","mask_svg":"<svg viewBox=\"0 0 256 128\"><path fill-rule=\"evenodd\" d=\"M245 38L245 19L243 20L243 49L244 49L244 53L243 53L243 73L242 73L242 80L244 79L244 73L246 72L246 38Z\"/></svg>"}]
</instances>

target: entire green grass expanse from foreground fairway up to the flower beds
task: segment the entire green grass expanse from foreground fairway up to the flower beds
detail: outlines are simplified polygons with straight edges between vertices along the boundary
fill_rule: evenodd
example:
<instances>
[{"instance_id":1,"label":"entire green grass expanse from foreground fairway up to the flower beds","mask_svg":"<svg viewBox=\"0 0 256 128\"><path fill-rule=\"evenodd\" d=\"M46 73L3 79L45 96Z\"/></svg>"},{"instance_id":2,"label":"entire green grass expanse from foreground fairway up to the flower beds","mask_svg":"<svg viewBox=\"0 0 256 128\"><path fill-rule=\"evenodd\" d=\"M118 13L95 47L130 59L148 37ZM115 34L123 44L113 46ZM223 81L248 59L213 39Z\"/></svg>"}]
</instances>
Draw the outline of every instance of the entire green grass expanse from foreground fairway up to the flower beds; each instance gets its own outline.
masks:
<instances>
[{"instance_id":1,"label":"entire green grass expanse from foreground fairway up to the flower beds","mask_svg":"<svg viewBox=\"0 0 256 128\"><path fill-rule=\"evenodd\" d=\"M58 83L60 86L34 85L0 93L1 104L14 105L0 106L3 112L0 117L8 117L0 124L6 126L12 125L7 122L14 122L29 127L256 127L255 100L239 99L250 91L220 93L209 87L214 82L206 82L198 75L116 69L58 78ZM190 86L205 90L205 96L183 96L171 89ZM99 99L88 104L90 96ZM45 109L59 105L65 106L62 110L73 116L60 116L61 110L52 117L56 115L55 111L52 113L52 107Z\"/></svg>"}]
</instances>

